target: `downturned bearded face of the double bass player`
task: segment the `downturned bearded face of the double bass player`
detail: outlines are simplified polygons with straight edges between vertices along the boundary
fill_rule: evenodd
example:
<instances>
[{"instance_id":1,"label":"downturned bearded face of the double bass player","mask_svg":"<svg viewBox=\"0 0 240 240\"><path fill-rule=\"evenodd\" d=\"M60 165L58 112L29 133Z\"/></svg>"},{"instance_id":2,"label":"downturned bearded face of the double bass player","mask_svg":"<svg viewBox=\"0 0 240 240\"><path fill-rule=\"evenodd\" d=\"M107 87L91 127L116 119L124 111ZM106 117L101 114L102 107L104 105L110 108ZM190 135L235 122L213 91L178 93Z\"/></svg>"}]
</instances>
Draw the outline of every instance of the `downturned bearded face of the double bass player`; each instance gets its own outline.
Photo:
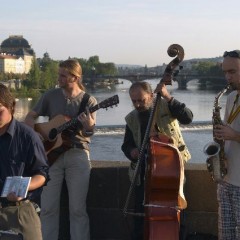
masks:
<instances>
[{"instance_id":1,"label":"downturned bearded face of the double bass player","mask_svg":"<svg viewBox=\"0 0 240 240\"><path fill-rule=\"evenodd\" d=\"M153 94L149 94L139 87L130 91L130 98L135 109L139 112L143 112L151 107Z\"/></svg>"}]
</instances>

